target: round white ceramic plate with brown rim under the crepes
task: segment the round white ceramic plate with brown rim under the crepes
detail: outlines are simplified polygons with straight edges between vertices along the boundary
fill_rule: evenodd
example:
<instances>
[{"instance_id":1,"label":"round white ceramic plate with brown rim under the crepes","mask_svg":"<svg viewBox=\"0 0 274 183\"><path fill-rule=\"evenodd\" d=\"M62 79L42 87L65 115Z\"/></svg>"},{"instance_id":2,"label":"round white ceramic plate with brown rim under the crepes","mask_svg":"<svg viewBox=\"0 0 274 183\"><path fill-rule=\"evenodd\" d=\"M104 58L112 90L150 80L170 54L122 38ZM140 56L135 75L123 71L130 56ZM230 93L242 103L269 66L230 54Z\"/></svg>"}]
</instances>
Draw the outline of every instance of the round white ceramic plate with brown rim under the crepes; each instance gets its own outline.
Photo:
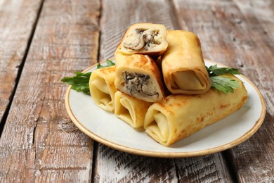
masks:
<instances>
[{"instance_id":1,"label":"round white ceramic plate with brown rim under the crepes","mask_svg":"<svg viewBox=\"0 0 274 183\"><path fill-rule=\"evenodd\" d=\"M208 66L216 64L209 60L205 60L205 63ZM84 72L95 69L96 65L93 65ZM145 132L134 130L113 113L98 108L91 96L75 92L71 87L68 87L65 95L65 107L79 130L113 149L153 157L202 156L229 149L247 140L259 129L265 118L265 102L259 89L246 77L238 77L247 88L247 103L227 118L169 147L158 144Z\"/></svg>"}]
</instances>

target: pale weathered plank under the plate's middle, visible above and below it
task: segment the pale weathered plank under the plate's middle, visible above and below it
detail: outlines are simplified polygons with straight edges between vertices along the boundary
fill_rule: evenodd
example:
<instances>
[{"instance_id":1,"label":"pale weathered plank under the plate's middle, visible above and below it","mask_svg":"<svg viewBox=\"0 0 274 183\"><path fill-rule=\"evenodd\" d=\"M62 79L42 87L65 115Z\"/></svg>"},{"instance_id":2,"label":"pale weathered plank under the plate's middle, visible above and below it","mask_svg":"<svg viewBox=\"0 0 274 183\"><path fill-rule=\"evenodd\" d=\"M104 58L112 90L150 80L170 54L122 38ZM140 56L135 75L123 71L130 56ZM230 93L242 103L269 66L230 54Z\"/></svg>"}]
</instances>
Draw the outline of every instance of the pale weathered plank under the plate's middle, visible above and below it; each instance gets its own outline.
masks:
<instances>
[{"instance_id":1,"label":"pale weathered plank under the plate's middle, visible above and below it","mask_svg":"<svg viewBox=\"0 0 274 183\"><path fill-rule=\"evenodd\" d=\"M100 20L101 60L113 56L125 30L133 23L160 23L168 29L178 27L176 20L173 19L175 15L169 1L106 0L103 2ZM187 179L189 182L201 180L230 182L232 180L221 153L196 158L147 158L115 151L99 144L96 154L93 170L96 182L177 182L180 179ZM185 162L188 162L188 167L184 167ZM186 178L177 177L181 174Z\"/></svg>"}]
</instances>

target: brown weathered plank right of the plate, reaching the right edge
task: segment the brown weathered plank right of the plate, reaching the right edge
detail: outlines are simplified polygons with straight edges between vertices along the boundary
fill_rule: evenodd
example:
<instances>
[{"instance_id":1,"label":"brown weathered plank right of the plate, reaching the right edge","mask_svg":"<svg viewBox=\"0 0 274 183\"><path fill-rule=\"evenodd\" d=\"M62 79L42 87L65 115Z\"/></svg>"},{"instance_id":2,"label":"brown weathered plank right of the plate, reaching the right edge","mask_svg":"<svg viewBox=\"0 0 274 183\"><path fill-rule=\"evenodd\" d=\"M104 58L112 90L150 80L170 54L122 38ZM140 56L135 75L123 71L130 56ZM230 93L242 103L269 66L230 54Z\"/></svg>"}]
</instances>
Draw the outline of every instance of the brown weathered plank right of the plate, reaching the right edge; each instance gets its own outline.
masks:
<instances>
[{"instance_id":1,"label":"brown weathered plank right of the plate, reaching the right edge","mask_svg":"<svg viewBox=\"0 0 274 183\"><path fill-rule=\"evenodd\" d=\"M273 1L174 0L174 6L181 27L199 35L204 56L240 68L265 97L261 129L229 152L240 182L273 182Z\"/></svg>"}]
</instances>

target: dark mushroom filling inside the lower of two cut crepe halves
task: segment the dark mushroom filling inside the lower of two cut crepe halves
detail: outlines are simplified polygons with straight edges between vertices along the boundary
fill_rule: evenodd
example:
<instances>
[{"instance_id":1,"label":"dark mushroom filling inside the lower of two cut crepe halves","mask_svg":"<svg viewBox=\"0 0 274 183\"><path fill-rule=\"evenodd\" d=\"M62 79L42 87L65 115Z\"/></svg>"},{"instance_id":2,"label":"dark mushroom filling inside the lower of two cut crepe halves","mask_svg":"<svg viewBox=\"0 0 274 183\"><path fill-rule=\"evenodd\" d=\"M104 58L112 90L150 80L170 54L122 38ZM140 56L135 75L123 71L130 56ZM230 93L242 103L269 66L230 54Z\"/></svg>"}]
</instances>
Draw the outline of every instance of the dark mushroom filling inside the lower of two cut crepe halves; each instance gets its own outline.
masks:
<instances>
[{"instance_id":1,"label":"dark mushroom filling inside the lower of two cut crepe halves","mask_svg":"<svg viewBox=\"0 0 274 183\"><path fill-rule=\"evenodd\" d=\"M132 96L152 96L157 98L159 94L155 92L155 87L149 75L140 73L124 72L124 89Z\"/></svg>"}]
</instances>

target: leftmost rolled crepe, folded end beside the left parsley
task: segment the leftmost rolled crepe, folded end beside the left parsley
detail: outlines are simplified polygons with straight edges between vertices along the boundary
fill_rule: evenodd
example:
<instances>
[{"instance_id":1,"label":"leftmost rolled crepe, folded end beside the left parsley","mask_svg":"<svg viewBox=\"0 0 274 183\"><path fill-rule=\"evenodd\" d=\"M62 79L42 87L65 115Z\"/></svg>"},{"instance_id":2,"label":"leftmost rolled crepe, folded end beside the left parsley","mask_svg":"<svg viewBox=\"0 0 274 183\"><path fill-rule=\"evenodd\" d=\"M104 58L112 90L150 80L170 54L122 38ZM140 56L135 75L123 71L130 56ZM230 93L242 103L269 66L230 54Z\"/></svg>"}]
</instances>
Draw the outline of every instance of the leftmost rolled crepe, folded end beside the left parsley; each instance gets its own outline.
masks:
<instances>
[{"instance_id":1,"label":"leftmost rolled crepe, folded end beside the left parsley","mask_svg":"<svg viewBox=\"0 0 274 183\"><path fill-rule=\"evenodd\" d=\"M91 73L89 79L91 97L97 106L105 111L114 112L115 66L100 68Z\"/></svg>"}]
</instances>

